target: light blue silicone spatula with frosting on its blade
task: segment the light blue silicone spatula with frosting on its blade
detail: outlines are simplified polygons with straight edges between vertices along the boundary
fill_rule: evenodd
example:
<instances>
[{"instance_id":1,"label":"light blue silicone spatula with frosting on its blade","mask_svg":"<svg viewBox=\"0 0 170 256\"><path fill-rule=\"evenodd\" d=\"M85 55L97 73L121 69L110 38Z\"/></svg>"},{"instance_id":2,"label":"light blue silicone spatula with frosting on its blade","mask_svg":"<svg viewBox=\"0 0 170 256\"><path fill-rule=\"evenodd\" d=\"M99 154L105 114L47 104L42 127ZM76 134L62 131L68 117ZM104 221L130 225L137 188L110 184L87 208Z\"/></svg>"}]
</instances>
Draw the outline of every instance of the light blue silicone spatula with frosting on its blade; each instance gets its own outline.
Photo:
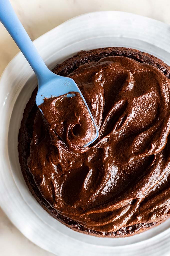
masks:
<instances>
[{"instance_id":1,"label":"light blue silicone spatula with frosting on its blade","mask_svg":"<svg viewBox=\"0 0 170 256\"><path fill-rule=\"evenodd\" d=\"M80 93L96 130L96 137L85 145L89 146L98 138L99 132L89 107L77 84L73 79L59 76L49 70L22 26L9 0L0 0L0 21L6 27L37 76L37 106L40 106L44 102L44 98L59 97L64 94L67 94L67 97L73 97L74 95L71 92Z\"/></svg>"}]
</instances>

